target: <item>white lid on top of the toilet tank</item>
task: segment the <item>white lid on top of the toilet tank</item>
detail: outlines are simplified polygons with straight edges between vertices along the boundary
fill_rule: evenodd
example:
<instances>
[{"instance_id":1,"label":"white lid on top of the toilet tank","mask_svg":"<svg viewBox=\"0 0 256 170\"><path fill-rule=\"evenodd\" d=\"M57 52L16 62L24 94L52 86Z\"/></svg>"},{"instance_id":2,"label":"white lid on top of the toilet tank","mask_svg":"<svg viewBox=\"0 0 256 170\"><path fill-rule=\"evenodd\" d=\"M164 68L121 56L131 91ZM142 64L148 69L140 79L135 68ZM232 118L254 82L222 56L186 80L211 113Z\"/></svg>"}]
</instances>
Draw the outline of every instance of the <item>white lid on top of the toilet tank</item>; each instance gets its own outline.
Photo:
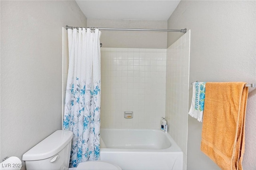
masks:
<instances>
[{"instance_id":1,"label":"white lid on top of the toilet tank","mask_svg":"<svg viewBox=\"0 0 256 170\"><path fill-rule=\"evenodd\" d=\"M23 154L22 160L42 160L54 156L62 150L73 137L72 131L58 130Z\"/></svg>"}]
</instances>

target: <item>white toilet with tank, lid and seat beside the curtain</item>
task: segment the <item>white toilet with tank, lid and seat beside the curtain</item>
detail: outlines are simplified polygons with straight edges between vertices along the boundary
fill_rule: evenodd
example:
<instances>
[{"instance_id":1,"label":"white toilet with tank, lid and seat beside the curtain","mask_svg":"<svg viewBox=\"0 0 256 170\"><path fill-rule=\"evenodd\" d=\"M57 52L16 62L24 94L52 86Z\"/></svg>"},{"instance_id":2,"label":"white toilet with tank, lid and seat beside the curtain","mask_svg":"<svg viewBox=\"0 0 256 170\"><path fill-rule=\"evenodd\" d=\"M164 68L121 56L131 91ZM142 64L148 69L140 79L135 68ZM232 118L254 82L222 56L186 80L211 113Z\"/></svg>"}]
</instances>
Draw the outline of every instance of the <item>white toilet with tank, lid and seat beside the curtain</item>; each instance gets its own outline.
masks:
<instances>
[{"instance_id":1,"label":"white toilet with tank, lid and seat beside the curtain","mask_svg":"<svg viewBox=\"0 0 256 170\"><path fill-rule=\"evenodd\" d=\"M81 162L76 168L68 168L73 133L58 130L23 154L27 170L122 170L106 161Z\"/></svg>"}]
</instances>

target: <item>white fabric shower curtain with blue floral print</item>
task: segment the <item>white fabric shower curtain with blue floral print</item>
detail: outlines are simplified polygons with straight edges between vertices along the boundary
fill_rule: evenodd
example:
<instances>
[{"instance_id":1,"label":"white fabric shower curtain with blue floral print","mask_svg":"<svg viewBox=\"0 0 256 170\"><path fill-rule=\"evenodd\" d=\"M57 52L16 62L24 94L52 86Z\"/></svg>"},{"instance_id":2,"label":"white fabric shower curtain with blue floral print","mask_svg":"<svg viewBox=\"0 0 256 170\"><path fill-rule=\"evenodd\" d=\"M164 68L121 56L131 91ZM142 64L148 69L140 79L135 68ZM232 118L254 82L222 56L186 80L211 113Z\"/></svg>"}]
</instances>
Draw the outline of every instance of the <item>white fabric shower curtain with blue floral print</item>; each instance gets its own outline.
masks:
<instances>
[{"instance_id":1,"label":"white fabric shower curtain with blue floral print","mask_svg":"<svg viewBox=\"0 0 256 170\"><path fill-rule=\"evenodd\" d=\"M100 158L100 31L68 29L63 129L73 132L70 167Z\"/></svg>"}]
</instances>

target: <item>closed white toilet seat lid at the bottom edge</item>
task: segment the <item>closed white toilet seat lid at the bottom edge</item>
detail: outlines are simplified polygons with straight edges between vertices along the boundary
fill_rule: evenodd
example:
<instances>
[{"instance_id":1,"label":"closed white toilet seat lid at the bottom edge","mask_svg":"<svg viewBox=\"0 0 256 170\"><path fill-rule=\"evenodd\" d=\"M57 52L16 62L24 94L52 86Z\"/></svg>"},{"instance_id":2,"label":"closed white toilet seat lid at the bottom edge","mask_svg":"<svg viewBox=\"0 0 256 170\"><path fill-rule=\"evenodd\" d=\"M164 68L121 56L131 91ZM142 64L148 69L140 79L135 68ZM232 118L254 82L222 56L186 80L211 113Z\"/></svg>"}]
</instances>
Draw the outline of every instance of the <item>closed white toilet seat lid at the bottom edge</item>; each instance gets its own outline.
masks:
<instances>
[{"instance_id":1,"label":"closed white toilet seat lid at the bottom edge","mask_svg":"<svg viewBox=\"0 0 256 170\"><path fill-rule=\"evenodd\" d=\"M107 161L87 161L78 164L76 170L122 170L120 166Z\"/></svg>"}]
</instances>

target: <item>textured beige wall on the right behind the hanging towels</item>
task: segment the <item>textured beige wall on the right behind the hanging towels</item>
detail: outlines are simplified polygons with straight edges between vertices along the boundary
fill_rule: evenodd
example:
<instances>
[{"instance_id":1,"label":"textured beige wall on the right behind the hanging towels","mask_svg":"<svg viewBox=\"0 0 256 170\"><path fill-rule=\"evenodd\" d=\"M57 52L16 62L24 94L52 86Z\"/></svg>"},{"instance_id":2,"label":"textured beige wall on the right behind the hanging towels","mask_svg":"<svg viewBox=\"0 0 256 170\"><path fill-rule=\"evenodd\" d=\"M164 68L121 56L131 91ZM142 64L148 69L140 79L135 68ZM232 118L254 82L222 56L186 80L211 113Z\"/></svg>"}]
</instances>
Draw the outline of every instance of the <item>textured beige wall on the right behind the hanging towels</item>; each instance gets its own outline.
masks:
<instances>
[{"instance_id":1,"label":"textured beige wall on the right behind the hanging towels","mask_svg":"<svg viewBox=\"0 0 256 170\"><path fill-rule=\"evenodd\" d=\"M168 29L191 29L190 82L256 82L256 2L181 1ZM168 33L168 46L181 36ZM256 168L256 89L249 88L243 166ZM190 103L192 86L189 89ZM202 123L188 119L188 170L218 166L200 151Z\"/></svg>"}]
</instances>

